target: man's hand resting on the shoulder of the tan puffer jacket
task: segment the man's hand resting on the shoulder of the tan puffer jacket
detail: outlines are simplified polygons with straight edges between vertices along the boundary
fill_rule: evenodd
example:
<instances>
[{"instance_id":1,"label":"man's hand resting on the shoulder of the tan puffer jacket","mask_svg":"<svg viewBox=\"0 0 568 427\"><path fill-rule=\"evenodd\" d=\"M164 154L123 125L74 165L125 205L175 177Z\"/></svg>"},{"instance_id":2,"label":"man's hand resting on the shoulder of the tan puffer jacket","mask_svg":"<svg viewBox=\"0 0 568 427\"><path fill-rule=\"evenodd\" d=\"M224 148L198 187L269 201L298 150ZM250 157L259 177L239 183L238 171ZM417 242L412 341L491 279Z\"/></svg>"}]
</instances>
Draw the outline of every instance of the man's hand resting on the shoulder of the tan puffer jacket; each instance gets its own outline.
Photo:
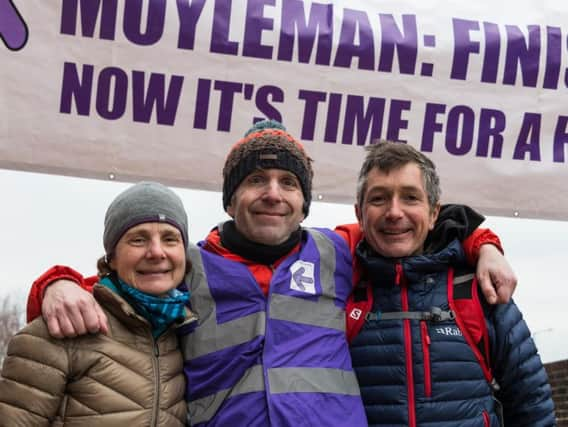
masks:
<instances>
[{"instance_id":1,"label":"man's hand resting on the shoulder of the tan puffer jacket","mask_svg":"<svg viewBox=\"0 0 568 427\"><path fill-rule=\"evenodd\" d=\"M71 280L57 280L45 290L42 315L55 338L107 333L107 317L93 295Z\"/></svg>"}]
</instances>

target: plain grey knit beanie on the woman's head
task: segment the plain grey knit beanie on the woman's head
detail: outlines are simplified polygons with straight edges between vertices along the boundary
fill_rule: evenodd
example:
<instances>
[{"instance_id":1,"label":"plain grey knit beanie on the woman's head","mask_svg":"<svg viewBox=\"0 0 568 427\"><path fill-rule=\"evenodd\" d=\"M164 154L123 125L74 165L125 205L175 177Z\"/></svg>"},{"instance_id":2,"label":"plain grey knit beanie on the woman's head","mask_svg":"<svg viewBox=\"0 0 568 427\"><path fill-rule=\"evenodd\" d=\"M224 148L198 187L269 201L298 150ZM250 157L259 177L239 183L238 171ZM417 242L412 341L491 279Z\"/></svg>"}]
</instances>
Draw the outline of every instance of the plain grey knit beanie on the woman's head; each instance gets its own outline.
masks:
<instances>
[{"instance_id":1,"label":"plain grey knit beanie on the woman's head","mask_svg":"<svg viewBox=\"0 0 568 427\"><path fill-rule=\"evenodd\" d=\"M105 215L103 245L107 255L126 231L145 222L165 222L176 227L187 248L187 214L179 196L165 185L143 181L120 193Z\"/></svg>"}]
</instances>

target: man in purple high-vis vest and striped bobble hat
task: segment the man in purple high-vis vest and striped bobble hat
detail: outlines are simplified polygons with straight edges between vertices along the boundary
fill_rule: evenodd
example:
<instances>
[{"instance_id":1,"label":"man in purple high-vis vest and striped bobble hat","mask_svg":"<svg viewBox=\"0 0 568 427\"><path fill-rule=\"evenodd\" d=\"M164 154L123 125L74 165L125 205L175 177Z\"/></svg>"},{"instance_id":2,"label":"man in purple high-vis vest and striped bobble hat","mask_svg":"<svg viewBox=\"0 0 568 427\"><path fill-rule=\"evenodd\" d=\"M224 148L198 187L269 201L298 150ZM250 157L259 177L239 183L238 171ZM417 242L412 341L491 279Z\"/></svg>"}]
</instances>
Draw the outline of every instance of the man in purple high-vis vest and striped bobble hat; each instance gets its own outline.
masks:
<instances>
[{"instance_id":1,"label":"man in purple high-vis vest and striped bobble hat","mask_svg":"<svg viewBox=\"0 0 568 427\"><path fill-rule=\"evenodd\" d=\"M182 337L192 425L367 425L345 339L350 246L360 234L300 227L310 207L311 163L270 120L257 123L227 156L223 206L232 219L199 250L189 249L191 305L199 317ZM493 242L487 236L478 233L470 252ZM513 277L507 265L485 265ZM30 295L32 313L43 289L62 278L85 282L70 269L46 273ZM508 286L510 293L514 280ZM56 334L104 330L92 310L74 316L62 308L64 293L88 304L77 289L65 281L48 288L45 316L64 319Z\"/></svg>"}]
</instances>

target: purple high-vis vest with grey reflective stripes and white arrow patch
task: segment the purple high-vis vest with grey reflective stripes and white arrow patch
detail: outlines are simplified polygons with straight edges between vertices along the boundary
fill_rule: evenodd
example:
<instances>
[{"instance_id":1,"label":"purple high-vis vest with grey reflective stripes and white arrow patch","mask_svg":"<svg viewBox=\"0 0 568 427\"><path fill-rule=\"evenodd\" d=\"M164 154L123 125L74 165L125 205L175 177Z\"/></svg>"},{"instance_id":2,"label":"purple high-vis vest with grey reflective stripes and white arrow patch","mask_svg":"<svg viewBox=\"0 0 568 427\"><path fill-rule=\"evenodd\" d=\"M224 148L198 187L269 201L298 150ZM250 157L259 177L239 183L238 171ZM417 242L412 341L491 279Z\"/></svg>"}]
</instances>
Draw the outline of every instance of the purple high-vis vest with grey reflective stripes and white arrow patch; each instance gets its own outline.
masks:
<instances>
[{"instance_id":1,"label":"purple high-vis vest with grey reflective stripes and white arrow patch","mask_svg":"<svg viewBox=\"0 0 568 427\"><path fill-rule=\"evenodd\" d=\"M248 268L190 249L195 330L181 337L193 426L366 426L345 338L352 260L305 230L268 297Z\"/></svg>"}]
</instances>

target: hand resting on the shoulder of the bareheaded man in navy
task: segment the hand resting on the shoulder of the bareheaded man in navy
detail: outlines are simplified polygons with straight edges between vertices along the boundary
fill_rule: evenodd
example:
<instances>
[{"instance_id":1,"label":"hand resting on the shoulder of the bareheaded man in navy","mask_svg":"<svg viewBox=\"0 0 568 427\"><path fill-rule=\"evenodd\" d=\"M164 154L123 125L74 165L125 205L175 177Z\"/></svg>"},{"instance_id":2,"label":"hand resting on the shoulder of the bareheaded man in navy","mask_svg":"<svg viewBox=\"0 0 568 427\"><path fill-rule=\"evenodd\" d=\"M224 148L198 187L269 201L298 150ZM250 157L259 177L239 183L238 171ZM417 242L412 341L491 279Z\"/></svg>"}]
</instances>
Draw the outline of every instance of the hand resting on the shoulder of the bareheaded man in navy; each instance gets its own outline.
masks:
<instances>
[{"instance_id":1,"label":"hand resting on the shoulder of the bareheaded man in navy","mask_svg":"<svg viewBox=\"0 0 568 427\"><path fill-rule=\"evenodd\" d=\"M517 286L515 272L495 246L482 245L477 262L477 280L489 304L506 304Z\"/></svg>"}]
</instances>

